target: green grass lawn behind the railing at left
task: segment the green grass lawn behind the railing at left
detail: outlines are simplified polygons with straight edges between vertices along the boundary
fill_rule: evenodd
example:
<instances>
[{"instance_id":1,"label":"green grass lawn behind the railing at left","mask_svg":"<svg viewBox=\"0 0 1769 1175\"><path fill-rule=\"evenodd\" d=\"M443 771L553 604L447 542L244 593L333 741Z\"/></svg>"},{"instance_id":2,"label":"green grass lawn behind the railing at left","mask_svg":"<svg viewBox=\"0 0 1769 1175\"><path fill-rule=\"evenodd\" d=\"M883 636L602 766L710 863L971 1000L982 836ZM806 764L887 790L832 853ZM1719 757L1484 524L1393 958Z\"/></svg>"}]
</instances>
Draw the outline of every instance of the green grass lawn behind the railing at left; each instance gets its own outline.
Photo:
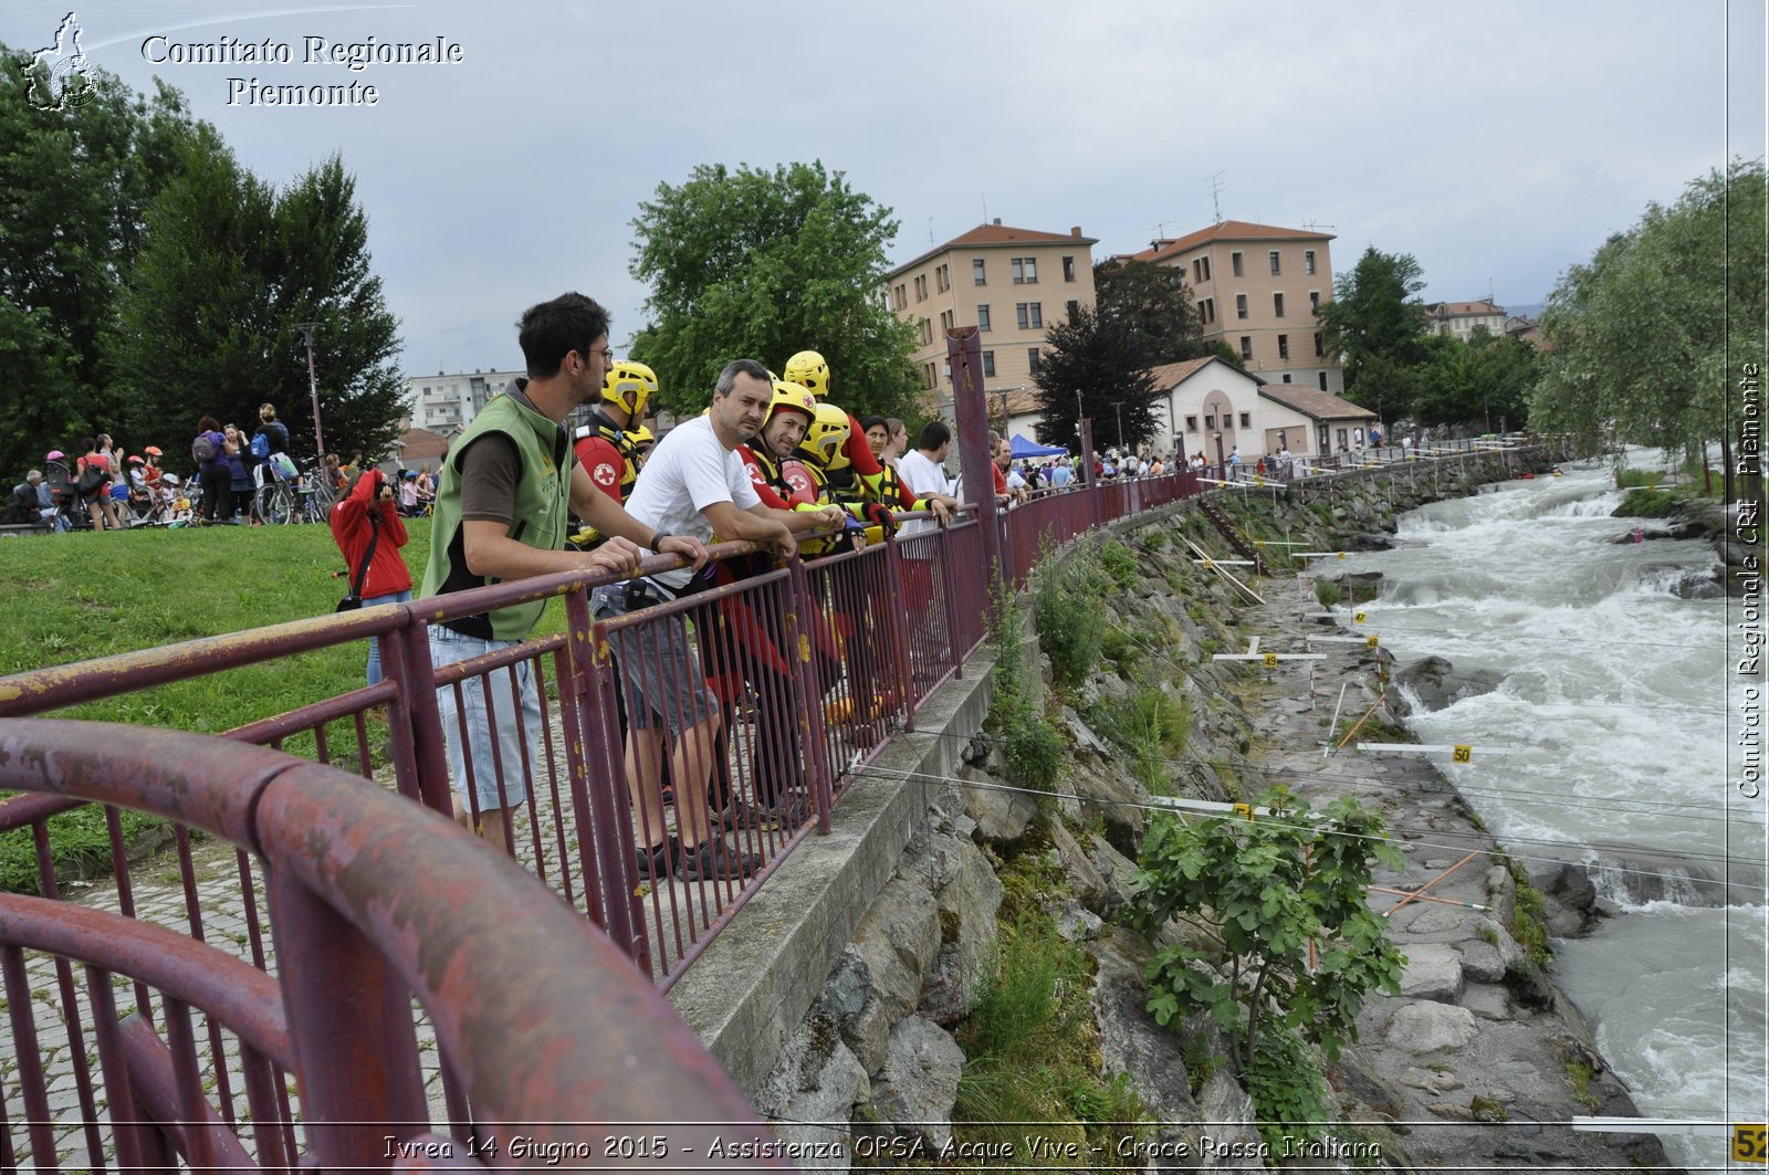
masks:
<instances>
[{"instance_id":1,"label":"green grass lawn behind the railing at left","mask_svg":"<svg viewBox=\"0 0 1769 1175\"><path fill-rule=\"evenodd\" d=\"M414 588L430 552L430 520L405 524L402 549ZM134 529L0 540L0 676L242 632L333 612L347 591L343 556L324 526ZM536 635L564 628L548 605ZM366 642L232 669L73 706L53 717L219 733L363 685ZM338 724L343 736L348 724ZM354 734L341 745L354 745ZM313 740L287 750L311 756ZM5 793L0 793L5 795ZM108 862L103 819L69 812L51 821L58 860ZM94 810L90 816L97 816ZM134 825L134 816L129 825ZM0 835L0 890L35 892L30 832Z\"/></svg>"}]
</instances>

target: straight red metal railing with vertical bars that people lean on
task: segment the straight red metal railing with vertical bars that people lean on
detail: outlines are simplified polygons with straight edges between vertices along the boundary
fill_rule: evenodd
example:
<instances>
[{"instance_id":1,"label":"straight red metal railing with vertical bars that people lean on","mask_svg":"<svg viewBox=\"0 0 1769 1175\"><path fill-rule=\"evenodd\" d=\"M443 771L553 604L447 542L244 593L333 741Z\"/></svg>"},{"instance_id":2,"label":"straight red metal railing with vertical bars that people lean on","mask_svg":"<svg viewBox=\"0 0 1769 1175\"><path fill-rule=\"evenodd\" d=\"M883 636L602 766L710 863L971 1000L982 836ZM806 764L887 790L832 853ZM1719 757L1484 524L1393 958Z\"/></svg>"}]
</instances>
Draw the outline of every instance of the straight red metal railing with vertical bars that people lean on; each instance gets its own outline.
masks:
<instances>
[{"instance_id":1,"label":"straight red metal railing with vertical bars that people lean on","mask_svg":"<svg viewBox=\"0 0 1769 1175\"><path fill-rule=\"evenodd\" d=\"M1122 517L1192 488L1191 478L1168 478L1038 499L1001 522L1003 557L1015 580L1022 580L1040 543L1067 541L1095 518ZM727 543L716 550L727 572L715 588L605 621L593 618L589 595L609 580L561 573L16 674L0 680L0 718L42 715L168 681L375 639L386 674L379 685L255 720L228 731L232 743L223 745L234 747L241 764L255 763L253 756L271 750L239 743L299 749L318 764L336 764L357 777L373 777L379 763L386 787L449 814L456 793L449 786L439 694L456 701L469 695L490 699L511 715L511 722L522 724L520 706L511 703L520 692L518 674L529 672L538 685L540 729L520 729L515 740L518 750L511 756L495 752L492 761L501 795L531 796L522 805L522 816L504 830L504 851L557 892L563 904L601 927L607 941L651 984L667 989L766 883L793 846L814 828L828 830L830 809L851 773L877 754L892 731L911 727L918 704L948 676L962 672L964 657L984 641L991 570L985 566L982 524L971 517L945 527L934 527L923 517L906 520L916 526L906 527L895 541L812 563L793 561L785 568L764 566L747 543ZM656 573L672 564L672 559L660 557L644 570ZM566 632L469 660L433 664L432 625L552 596L563 598ZM667 782L676 803L669 814L653 798L656 784L665 782L660 766L651 768L642 786L624 786L628 731L623 715L633 711L637 699L632 678L623 676L619 665L621 655L632 655L647 632L662 635L665 630L692 635L695 676L706 680L716 701L711 759L702 756L695 761L690 756L672 764ZM456 704L455 711L460 713L462 706ZM678 720L678 726L685 724ZM469 775L472 770L467 766ZM396 803L373 787L363 787L361 779L354 787ZM734 876L693 876L679 862L667 862L649 871L658 876L642 876L635 848L656 841L665 830L681 832L683 814L702 789L713 833L727 844L727 858L750 858L750 867L731 871ZM474 793L471 786L465 791L469 796ZM637 807L635 793L640 796ZM92 800L103 802L104 796L67 789L64 795L0 800L0 835L28 835L34 841L37 888L51 904L64 897L64 878L51 860L48 823ZM127 803L136 800L131 793ZM103 803L99 810L115 885L103 897L113 913L94 913L96 922L87 915L69 915L69 925L85 927L78 934L97 934L99 924L152 922L180 936L180 941L207 945L202 966L232 977L228 982L241 991L258 991L264 982L246 979L242 966L253 975L280 973L287 979L292 973L287 957L292 938L281 925L278 934L271 933L281 899L274 897L265 876L262 846L235 839L237 848L218 853L218 846L203 839L203 833L214 832L212 821L198 819L177 803L136 805L172 819L166 835L175 849L175 879L170 874L157 879L140 874L129 860L131 846L119 805ZM42 906L27 904L30 911L37 911L39 922L46 913ZM104 933L117 941L161 934L136 925ZM237 964L216 963L219 957L237 959ZM115 1018L99 996L85 996L83 1003L71 959L57 961L57 998L46 1010L60 1019L58 1032L67 1035L67 1069L78 1092L81 1122L96 1122L104 1101L97 1090L110 1076L94 1072L85 1060L81 1025L90 1023L90 1012L81 1009L96 1007L106 1025ZM92 966L119 971L111 956L92 956ZM131 975L134 1009L149 1009L154 989L166 991L154 975ZM173 993L177 1003L209 1012L200 1018L200 1028L191 1030L189 1049L179 1051L184 1049L179 1044L182 1035L172 1041L173 1071L182 1074L193 1065L203 1067L203 1081L212 1088L219 1113L214 1129L271 1120L265 1095L272 1097L280 1115L274 1120L292 1124L297 1111L276 1076L288 1069L290 1056L271 1048L262 1032L246 1035L251 1025L242 1028L239 1009L216 1003L212 986L180 991L186 995ZM7 1122L18 1113L37 1117L42 1106L34 1094L7 1092L14 1087L11 1074L28 1069L37 1046L18 1026L12 1039L0 1046L7 1046L0 1048L0 1078L5 1078L0 1081L4 1157L4 1148L12 1147ZM134 1056L127 1051L134 1046L122 1042L117 1048L124 1049L117 1056ZM437 1046L435 1079L448 1117L465 1120L467 1092L456 1081L448 1048L446 1042ZM258 1060L248 1056L251 1049L271 1067L269 1085ZM195 1060L196 1051L205 1060ZM145 1062L136 1058L134 1064ZM156 1072L165 1071L165 1062L152 1064L159 1067ZM163 1099L143 1113L166 1108L177 1110L179 1102ZM299 1118L311 1122L311 1110L302 1099ZM113 1145L101 1143L92 1129L85 1127L88 1156ZM34 1134L30 1145L41 1148L42 1140ZM55 1145L64 1152L69 1148L67 1138L57 1138ZM274 1157L274 1147L283 1154L295 1152L292 1127L283 1129L280 1141L272 1133L248 1143L257 1156ZM225 1148L218 1152L221 1159L232 1154Z\"/></svg>"}]
</instances>

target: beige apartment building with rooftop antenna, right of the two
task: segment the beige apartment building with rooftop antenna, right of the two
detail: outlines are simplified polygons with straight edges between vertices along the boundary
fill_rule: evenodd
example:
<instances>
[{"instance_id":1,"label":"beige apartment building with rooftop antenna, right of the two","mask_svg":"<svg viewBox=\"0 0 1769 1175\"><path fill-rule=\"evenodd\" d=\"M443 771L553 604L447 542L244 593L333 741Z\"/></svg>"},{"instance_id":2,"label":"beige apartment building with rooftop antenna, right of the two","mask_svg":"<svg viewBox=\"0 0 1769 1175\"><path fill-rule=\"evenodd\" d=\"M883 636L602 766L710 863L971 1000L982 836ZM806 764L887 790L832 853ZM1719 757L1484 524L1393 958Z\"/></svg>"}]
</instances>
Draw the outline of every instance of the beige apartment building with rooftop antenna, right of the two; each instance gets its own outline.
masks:
<instances>
[{"instance_id":1,"label":"beige apartment building with rooftop antenna, right of the two","mask_svg":"<svg viewBox=\"0 0 1769 1175\"><path fill-rule=\"evenodd\" d=\"M1323 232L1231 219L1155 241L1129 260L1183 269L1205 338L1228 343L1247 372L1341 395L1344 372L1314 322L1332 299L1330 242Z\"/></svg>"}]
</instances>

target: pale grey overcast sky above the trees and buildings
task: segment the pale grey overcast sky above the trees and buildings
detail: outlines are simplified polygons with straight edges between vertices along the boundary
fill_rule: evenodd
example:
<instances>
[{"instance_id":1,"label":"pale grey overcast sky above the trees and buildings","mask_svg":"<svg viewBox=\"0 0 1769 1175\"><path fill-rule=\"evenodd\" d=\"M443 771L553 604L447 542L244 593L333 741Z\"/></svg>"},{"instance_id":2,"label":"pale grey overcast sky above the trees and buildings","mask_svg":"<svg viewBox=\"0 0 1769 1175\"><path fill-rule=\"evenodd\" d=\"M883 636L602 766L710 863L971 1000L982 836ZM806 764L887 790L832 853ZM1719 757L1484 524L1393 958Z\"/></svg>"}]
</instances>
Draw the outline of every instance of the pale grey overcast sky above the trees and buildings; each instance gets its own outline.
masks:
<instances>
[{"instance_id":1,"label":"pale grey overcast sky above the trees and buildings","mask_svg":"<svg viewBox=\"0 0 1769 1175\"><path fill-rule=\"evenodd\" d=\"M14 0L0 41L48 44L67 4ZM893 260L985 218L1081 225L1100 258L1206 227L1219 207L1336 234L1336 271L1373 244L1417 257L1428 299L1527 304L1649 200L1675 200L1728 156L1764 154L1760 0L76 14L92 62L136 88L156 74L180 88L258 175L287 182L343 154L409 373L511 366L517 315L568 288L610 306L619 349L644 322L630 221L699 163L821 159L895 211ZM308 37L440 37L460 60L352 73L306 60ZM191 44L265 39L290 64L172 60ZM379 101L251 104L239 90L253 78L356 81Z\"/></svg>"}]
</instances>

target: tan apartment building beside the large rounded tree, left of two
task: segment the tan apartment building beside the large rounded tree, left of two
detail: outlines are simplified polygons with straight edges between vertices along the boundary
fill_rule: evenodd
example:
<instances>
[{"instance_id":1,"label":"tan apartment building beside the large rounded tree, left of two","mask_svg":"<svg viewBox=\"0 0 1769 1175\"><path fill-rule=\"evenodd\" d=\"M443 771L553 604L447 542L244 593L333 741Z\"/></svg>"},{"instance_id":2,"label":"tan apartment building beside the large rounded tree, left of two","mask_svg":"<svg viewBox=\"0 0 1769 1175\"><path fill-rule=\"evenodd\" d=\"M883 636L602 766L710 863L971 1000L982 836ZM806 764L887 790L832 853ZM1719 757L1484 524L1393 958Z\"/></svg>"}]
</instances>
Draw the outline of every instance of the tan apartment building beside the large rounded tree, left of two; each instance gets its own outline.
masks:
<instances>
[{"instance_id":1,"label":"tan apartment building beside the large rounded tree, left of two","mask_svg":"<svg viewBox=\"0 0 1769 1175\"><path fill-rule=\"evenodd\" d=\"M916 329L922 388L952 403L946 331L975 326L984 389L1030 389L1045 329L1093 306L1093 237L1012 228L996 218L890 271L884 304ZM1021 396L1024 398L1024 396ZM999 398L996 400L999 403Z\"/></svg>"}]
</instances>

